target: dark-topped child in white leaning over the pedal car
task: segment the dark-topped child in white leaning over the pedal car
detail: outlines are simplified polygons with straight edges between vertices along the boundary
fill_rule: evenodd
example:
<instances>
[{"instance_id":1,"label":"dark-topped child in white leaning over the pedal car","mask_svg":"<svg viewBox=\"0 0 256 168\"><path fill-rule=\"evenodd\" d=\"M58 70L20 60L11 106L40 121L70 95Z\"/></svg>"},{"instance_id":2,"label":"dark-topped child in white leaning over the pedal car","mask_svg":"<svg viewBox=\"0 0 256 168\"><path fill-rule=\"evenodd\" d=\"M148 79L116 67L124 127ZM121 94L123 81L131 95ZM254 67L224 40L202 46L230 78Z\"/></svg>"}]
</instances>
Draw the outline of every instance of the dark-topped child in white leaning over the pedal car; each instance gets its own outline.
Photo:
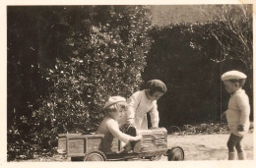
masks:
<instances>
[{"instance_id":1,"label":"dark-topped child in white leaning over the pedal car","mask_svg":"<svg viewBox=\"0 0 256 168\"><path fill-rule=\"evenodd\" d=\"M147 88L133 93L127 100L128 109L119 121L135 126L137 130L148 130L147 113L151 115L152 128L159 128L159 111L157 100L167 91L167 87L160 80L148 82Z\"/></svg>"}]
</instances>

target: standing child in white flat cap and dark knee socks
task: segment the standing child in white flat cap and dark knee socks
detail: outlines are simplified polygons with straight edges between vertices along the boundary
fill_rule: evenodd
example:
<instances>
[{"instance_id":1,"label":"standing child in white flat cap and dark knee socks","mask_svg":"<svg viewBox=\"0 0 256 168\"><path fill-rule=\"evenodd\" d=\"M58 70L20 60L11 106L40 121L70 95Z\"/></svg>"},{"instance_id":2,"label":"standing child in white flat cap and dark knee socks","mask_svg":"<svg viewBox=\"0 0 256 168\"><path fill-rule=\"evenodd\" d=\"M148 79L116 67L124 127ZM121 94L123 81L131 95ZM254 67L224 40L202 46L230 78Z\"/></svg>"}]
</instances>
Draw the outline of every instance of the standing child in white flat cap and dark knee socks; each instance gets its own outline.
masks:
<instances>
[{"instance_id":1,"label":"standing child in white flat cap and dark knee socks","mask_svg":"<svg viewBox=\"0 0 256 168\"><path fill-rule=\"evenodd\" d=\"M229 140L227 141L228 160L235 159L236 153L234 148L236 148L239 160L246 159L246 154L241 144L241 141L245 133L248 132L250 126L249 98L242 89L246 78L246 75L238 71L229 71L222 76L225 89L231 94L228 102L228 109L224 112L228 128L231 132Z\"/></svg>"}]
</instances>

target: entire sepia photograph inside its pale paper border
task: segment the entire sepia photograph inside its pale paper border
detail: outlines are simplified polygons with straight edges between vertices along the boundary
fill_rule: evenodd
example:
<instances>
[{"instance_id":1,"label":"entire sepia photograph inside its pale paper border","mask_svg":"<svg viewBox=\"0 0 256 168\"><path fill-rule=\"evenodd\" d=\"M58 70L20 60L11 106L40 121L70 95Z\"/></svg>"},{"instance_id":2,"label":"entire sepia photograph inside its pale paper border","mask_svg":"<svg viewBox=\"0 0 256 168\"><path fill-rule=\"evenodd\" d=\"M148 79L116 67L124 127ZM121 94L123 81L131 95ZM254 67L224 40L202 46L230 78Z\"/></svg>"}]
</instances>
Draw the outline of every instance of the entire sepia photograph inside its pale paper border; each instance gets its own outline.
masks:
<instances>
[{"instance_id":1,"label":"entire sepia photograph inside its pale paper border","mask_svg":"<svg viewBox=\"0 0 256 168\"><path fill-rule=\"evenodd\" d=\"M7 162L253 160L253 4L8 5Z\"/></svg>"}]
</instances>

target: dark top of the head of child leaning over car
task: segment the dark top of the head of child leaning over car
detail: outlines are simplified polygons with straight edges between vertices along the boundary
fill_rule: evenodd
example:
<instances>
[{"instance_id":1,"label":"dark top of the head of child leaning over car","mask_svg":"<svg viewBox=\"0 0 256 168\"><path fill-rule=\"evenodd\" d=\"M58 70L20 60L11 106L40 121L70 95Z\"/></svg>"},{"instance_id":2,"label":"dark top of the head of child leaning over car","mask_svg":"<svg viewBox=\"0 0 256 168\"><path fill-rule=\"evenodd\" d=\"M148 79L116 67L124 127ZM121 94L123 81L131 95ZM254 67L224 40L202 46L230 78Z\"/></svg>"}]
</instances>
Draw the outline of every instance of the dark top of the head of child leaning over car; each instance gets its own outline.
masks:
<instances>
[{"instance_id":1,"label":"dark top of the head of child leaning over car","mask_svg":"<svg viewBox=\"0 0 256 168\"><path fill-rule=\"evenodd\" d=\"M147 87L150 95L153 95L156 91L160 91L163 94L167 91L167 87L160 80L152 80L147 83Z\"/></svg>"}]
</instances>

